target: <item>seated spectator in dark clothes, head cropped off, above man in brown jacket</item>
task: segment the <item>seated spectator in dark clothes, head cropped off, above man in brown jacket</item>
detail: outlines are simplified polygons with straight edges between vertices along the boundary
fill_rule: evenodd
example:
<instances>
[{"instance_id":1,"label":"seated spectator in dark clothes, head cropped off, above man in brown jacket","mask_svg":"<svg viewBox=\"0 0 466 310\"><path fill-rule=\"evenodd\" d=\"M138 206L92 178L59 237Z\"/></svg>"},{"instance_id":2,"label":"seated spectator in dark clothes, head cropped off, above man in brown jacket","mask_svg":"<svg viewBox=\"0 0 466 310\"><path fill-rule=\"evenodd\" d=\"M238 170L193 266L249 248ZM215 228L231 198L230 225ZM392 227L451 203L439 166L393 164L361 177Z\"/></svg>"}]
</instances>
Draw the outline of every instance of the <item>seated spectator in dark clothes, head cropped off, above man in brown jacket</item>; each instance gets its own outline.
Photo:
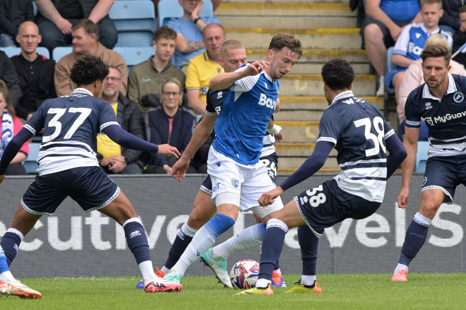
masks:
<instances>
[{"instance_id":1,"label":"seated spectator in dark clothes, head cropped off, above man in brown jacket","mask_svg":"<svg viewBox=\"0 0 466 310\"><path fill-rule=\"evenodd\" d=\"M98 26L100 42L112 49L117 44L117 28L109 17L115 0L34 0L39 12L36 23L42 35L42 46L50 55L57 46L72 43L73 24L88 19Z\"/></svg>"}]
</instances>

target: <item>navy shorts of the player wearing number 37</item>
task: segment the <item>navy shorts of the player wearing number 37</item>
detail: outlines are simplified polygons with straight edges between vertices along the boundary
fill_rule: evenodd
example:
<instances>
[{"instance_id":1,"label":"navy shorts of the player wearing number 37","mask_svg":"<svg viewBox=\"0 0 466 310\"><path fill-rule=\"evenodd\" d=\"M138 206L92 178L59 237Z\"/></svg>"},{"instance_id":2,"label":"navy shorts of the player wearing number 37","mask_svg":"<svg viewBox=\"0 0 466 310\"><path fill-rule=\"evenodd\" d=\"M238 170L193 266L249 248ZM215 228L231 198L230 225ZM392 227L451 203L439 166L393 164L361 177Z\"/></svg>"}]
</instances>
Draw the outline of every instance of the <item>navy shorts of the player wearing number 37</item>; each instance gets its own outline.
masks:
<instances>
[{"instance_id":1,"label":"navy shorts of the player wearing number 37","mask_svg":"<svg viewBox=\"0 0 466 310\"><path fill-rule=\"evenodd\" d=\"M30 213L52 216L69 196L82 210L90 212L110 204L119 193L120 188L102 168L76 167L36 176L24 193L21 204Z\"/></svg>"}]
</instances>

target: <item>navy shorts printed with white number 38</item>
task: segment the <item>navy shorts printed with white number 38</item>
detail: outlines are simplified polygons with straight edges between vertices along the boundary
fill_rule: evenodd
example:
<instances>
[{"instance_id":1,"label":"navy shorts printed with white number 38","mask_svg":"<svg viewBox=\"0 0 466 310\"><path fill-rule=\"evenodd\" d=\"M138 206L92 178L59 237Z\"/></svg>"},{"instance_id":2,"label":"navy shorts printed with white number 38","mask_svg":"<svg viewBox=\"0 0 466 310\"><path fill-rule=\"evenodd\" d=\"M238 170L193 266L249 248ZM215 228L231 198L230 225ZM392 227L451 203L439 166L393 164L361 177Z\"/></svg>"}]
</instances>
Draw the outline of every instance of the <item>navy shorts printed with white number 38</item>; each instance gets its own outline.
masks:
<instances>
[{"instance_id":1,"label":"navy shorts printed with white number 38","mask_svg":"<svg viewBox=\"0 0 466 310\"><path fill-rule=\"evenodd\" d=\"M302 192L295 201L302 218L317 237L322 236L325 228L347 218L369 217L381 204L341 190L335 180Z\"/></svg>"}]
</instances>

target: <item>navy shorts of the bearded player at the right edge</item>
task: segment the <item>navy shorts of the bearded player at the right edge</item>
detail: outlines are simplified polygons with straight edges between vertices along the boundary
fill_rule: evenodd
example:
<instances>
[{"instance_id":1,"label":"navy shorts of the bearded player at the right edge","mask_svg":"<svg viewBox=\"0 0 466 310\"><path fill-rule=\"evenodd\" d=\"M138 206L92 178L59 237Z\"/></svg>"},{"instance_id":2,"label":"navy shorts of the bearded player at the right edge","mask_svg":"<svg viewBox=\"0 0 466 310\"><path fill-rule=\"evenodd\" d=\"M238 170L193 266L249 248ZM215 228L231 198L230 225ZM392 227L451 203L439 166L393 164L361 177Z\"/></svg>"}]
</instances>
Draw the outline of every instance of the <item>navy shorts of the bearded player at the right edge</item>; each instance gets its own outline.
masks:
<instances>
[{"instance_id":1,"label":"navy shorts of the bearded player at the right edge","mask_svg":"<svg viewBox=\"0 0 466 310\"><path fill-rule=\"evenodd\" d=\"M456 186L460 184L466 186L466 155L433 156L427 159L421 192L442 190L445 193L444 202L451 203Z\"/></svg>"}]
</instances>

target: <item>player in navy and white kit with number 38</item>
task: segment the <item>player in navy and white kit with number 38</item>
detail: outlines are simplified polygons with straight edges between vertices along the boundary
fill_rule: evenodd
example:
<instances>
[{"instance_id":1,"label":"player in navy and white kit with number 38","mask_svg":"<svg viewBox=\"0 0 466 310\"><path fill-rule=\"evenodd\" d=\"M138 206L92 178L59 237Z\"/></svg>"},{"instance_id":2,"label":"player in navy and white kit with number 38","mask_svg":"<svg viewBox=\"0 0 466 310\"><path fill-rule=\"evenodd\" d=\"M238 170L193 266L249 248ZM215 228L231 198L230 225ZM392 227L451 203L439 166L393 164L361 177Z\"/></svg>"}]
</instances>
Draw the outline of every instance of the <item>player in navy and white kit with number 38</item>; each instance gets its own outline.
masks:
<instances>
[{"instance_id":1,"label":"player in navy and white kit with number 38","mask_svg":"<svg viewBox=\"0 0 466 310\"><path fill-rule=\"evenodd\" d=\"M297 285L287 292L322 293L315 274L317 246L324 229L346 218L367 218L380 207L386 180L406 151L377 107L353 94L354 77L353 68L343 59L332 59L322 67L329 106L320 120L314 152L280 186L262 194L259 203L273 204L283 191L312 176L322 168L332 148L338 152L340 174L302 192L273 214L262 242L258 280L254 288L240 294L274 293L270 285L274 262L292 227L298 227L303 272Z\"/></svg>"}]
</instances>

